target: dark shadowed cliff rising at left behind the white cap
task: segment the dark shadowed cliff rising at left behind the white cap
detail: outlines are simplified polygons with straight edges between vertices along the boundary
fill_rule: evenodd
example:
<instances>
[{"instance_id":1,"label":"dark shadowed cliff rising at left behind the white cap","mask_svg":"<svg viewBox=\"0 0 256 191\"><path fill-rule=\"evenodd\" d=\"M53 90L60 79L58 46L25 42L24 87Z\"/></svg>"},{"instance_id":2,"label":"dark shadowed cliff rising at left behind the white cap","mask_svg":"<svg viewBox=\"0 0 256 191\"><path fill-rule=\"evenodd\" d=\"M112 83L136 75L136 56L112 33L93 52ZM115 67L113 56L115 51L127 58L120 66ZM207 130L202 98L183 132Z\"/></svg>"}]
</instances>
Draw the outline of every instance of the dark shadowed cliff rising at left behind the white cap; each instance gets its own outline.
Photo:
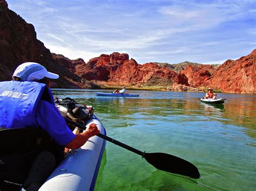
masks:
<instances>
[{"instance_id":1,"label":"dark shadowed cliff rising at left behind the white cap","mask_svg":"<svg viewBox=\"0 0 256 191\"><path fill-rule=\"evenodd\" d=\"M49 49L37 40L32 24L8 9L6 1L0 1L0 81L11 80L12 73L23 62L38 62L51 72L60 75L55 80L58 87L80 87L79 76L59 65Z\"/></svg>"}]
</instances>

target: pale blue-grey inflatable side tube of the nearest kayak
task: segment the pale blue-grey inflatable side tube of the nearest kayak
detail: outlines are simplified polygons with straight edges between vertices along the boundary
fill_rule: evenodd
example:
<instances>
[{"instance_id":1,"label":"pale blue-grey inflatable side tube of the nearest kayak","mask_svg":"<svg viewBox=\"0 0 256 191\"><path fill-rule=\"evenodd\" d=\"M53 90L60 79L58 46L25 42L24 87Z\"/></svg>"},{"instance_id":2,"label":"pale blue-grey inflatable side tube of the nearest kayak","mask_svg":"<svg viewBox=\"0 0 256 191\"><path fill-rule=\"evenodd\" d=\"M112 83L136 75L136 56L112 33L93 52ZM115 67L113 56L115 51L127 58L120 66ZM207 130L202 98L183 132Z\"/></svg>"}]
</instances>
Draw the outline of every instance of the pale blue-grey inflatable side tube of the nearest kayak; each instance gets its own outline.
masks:
<instances>
[{"instance_id":1,"label":"pale blue-grey inflatable side tube of the nearest kayak","mask_svg":"<svg viewBox=\"0 0 256 191\"><path fill-rule=\"evenodd\" d=\"M103 124L95 115L86 126L90 123L95 123L100 133L106 135ZM106 140L91 137L78 150L70 152L39 190L93 190L105 144Z\"/></svg>"}]
</instances>

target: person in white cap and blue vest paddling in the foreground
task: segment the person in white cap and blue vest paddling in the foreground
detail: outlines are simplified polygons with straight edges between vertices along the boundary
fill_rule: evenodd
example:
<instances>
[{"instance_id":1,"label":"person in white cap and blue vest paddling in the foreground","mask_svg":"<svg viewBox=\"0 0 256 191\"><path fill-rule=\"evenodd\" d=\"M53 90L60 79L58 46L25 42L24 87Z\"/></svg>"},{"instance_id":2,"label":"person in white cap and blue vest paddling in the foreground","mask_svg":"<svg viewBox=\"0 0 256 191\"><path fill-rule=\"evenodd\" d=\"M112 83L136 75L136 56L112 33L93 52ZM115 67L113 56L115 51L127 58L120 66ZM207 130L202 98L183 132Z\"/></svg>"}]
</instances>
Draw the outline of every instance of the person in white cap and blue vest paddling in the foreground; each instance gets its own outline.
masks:
<instances>
[{"instance_id":1,"label":"person in white cap and blue vest paddling in the foreground","mask_svg":"<svg viewBox=\"0 0 256 191\"><path fill-rule=\"evenodd\" d=\"M50 79L58 79L58 77L57 74L48 72L39 63L26 62L17 67L12 75L12 81L0 82L0 130L14 128L43 129L57 145L72 150L79 148L90 137L97 135L99 130L96 124L90 124L85 132L77 135L74 135L66 125L64 118L55 107L50 90ZM39 158L45 159L46 163L52 167L48 172L43 172L36 181L12 182L11 179L5 180L7 176L5 177L4 173L1 172L0 190L4 190L6 185L7 187L9 185L10 188L11 186L22 185L28 190L37 190L55 168L55 161L49 156L49 153L45 154L45 152L39 154ZM38 156L37 160L39 160ZM1 165L4 165L4 161L1 160L0 156L0 171L2 171ZM22 180L24 181L24 177Z\"/></svg>"}]
</instances>

